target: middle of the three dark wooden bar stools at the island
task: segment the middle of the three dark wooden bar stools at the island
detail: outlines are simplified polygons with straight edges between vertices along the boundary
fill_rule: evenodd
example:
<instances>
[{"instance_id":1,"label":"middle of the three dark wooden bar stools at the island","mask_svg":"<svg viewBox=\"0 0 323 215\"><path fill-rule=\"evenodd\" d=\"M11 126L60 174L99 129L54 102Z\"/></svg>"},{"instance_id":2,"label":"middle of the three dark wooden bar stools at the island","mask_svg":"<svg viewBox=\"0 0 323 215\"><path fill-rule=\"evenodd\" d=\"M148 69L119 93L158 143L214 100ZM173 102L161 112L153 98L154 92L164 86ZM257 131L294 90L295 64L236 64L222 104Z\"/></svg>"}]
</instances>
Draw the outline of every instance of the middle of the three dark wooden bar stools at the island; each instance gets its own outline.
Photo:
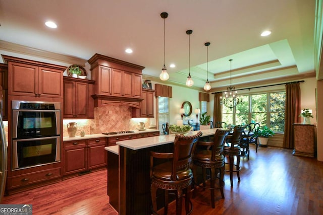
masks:
<instances>
[{"instance_id":1,"label":"middle of the three dark wooden bar stools at the island","mask_svg":"<svg viewBox=\"0 0 323 215\"><path fill-rule=\"evenodd\" d=\"M214 189L220 189L221 196L224 198L223 192L223 178L225 169L225 157L223 156L223 147L226 137L230 130L217 129L214 133L213 141L198 141L197 148L206 147L206 149L198 151L196 150L194 155L194 193L196 192L196 186L203 187L203 189L210 189L211 193L211 206L214 208ZM199 185L197 168L202 168L202 182L203 185ZM206 177L206 171L209 171L208 177ZM218 171L220 173L219 177ZM219 178L219 186L216 186L216 178ZM206 181L210 179L210 184L206 185Z\"/></svg>"}]
</instances>

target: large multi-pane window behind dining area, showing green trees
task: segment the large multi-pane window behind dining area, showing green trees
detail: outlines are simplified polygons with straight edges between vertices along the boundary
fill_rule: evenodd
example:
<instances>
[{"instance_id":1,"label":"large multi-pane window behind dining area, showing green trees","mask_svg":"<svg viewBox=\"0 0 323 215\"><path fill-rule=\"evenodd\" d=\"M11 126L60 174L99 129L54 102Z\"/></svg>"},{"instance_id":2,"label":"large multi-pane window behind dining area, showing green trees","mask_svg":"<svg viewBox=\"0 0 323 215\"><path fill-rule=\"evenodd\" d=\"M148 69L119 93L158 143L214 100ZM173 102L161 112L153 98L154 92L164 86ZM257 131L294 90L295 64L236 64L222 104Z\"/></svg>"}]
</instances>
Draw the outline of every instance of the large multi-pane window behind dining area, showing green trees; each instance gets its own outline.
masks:
<instances>
[{"instance_id":1,"label":"large multi-pane window behind dining area, showing green trees","mask_svg":"<svg viewBox=\"0 0 323 215\"><path fill-rule=\"evenodd\" d=\"M222 119L232 125L258 122L275 132L284 132L285 95L285 91L243 95L243 103L232 110L223 106Z\"/></svg>"}]
</instances>

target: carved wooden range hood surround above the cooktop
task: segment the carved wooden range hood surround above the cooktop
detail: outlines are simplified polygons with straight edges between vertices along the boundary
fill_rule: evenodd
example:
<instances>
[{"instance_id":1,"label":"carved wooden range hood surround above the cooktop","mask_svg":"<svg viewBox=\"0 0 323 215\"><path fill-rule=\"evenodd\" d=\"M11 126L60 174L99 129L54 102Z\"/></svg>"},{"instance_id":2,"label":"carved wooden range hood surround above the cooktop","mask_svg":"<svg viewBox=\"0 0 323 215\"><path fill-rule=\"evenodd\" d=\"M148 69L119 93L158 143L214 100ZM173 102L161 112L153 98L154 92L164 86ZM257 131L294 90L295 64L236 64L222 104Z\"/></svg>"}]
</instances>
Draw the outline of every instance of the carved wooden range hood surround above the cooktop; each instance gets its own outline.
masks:
<instances>
[{"instance_id":1,"label":"carved wooden range hood surround above the cooktop","mask_svg":"<svg viewBox=\"0 0 323 215\"><path fill-rule=\"evenodd\" d=\"M144 66L97 53L88 62L91 79L95 81L92 95L95 107L119 104L140 108Z\"/></svg>"}]
</instances>

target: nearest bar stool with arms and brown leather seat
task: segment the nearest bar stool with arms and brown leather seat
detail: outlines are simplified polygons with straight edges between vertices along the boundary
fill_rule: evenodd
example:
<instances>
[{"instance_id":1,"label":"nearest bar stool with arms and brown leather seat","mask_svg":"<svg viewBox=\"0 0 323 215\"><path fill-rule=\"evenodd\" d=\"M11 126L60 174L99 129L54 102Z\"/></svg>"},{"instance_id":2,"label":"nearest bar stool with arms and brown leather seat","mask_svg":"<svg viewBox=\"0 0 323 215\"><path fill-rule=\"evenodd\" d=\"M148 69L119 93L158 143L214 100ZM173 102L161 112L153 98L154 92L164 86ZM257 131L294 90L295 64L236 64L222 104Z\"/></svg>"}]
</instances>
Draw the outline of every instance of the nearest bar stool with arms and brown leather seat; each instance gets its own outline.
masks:
<instances>
[{"instance_id":1,"label":"nearest bar stool with arms and brown leather seat","mask_svg":"<svg viewBox=\"0 0 323 215\"><path fill-rule=\"evenodd\" d=\"M182 214L183 189L186 189L186 214L190 214L192 212L193 205L190 201L190 192L193 173L191 170L191 164L193 162L196 142L198 137L201 135L201 131L192 136L176 135L173 153L150 152L150 192L152 200L152 212L154 214L157 214L156 192L158 188L164 190L165 214L167 214L168 211L169 190L176 191L176 214ZM168 161L154 166L153 163L156 159L168 159ZM191 208L189 208L190 205Z\"/></svg>"}]
</instances>

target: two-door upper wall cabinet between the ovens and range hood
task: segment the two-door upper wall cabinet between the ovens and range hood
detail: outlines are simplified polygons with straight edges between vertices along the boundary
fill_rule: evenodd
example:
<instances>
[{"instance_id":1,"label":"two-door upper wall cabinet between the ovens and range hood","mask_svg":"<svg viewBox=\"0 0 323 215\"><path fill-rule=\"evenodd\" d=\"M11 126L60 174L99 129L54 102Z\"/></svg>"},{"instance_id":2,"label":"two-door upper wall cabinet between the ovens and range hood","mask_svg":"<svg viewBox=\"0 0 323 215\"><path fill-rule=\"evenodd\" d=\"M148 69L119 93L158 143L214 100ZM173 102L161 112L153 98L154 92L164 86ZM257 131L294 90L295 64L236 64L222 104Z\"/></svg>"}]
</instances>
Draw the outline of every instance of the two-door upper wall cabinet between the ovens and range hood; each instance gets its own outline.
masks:
<instances>
[{"instance_id":1,"label":"two-door upper wall cabinet between the ovens and range hood","mask_svg":"<svg viewBox=\"0 0 323 215\"><path fill-rule=\"evenodd\" d=\"M94 118L94 81L64 77L63 118Z\"/></svg>"}]
</instances>

